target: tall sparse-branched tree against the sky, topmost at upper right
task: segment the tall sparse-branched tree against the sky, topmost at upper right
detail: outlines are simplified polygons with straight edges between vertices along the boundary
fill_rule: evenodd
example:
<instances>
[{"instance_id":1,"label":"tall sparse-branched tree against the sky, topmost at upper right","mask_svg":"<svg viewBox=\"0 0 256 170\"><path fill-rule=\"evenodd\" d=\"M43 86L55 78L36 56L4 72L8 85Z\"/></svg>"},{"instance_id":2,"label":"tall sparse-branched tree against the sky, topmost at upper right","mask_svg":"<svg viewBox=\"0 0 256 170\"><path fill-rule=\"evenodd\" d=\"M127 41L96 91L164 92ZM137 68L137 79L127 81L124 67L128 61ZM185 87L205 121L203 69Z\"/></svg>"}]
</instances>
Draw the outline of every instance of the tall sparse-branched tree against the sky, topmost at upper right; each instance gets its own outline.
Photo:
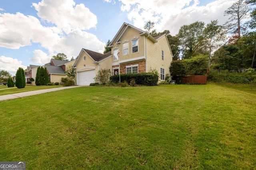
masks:
<instances>
[{"instance_id":1,"label":"tall sparse-branched tree against the sky, topmost at upper right","mask_svg":"<svg viewBox=\"0 0 256 170\"><path fill-rule=\"evenodd\" d=\"M224 11L224 16L230 16L228 21L224 23L224 27L228 33L238 34L238 39L241 38L241 33L246 31L246 22L243 19L248 18L250 8L244 0L238 0L232 4L227 10Z\"/></svg>"}]
</instances>

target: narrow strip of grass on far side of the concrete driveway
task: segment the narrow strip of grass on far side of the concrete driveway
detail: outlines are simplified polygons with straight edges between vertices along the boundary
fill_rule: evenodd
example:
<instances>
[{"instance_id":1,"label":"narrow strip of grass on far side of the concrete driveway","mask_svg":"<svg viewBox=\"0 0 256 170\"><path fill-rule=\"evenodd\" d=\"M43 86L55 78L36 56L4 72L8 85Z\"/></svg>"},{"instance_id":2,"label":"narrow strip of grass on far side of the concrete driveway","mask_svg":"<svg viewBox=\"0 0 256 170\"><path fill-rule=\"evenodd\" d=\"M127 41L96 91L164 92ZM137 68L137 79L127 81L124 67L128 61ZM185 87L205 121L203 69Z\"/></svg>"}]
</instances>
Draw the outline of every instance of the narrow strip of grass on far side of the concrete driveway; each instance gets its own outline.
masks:
<instances>
[{"instance_id":1,"label":"narrow strip of grass on far side of the concrete driveway","mask_svg":"<svg viewBox=\"0 0 256 170\"><path fill-rule=\"evenodd\" d=\"M57 88L57 87L63 87L61 85L54 85L54 86L26 86L25 88L16 88L11 87L8 88L8 86L0 86L0 96L6 95L6 94L14 94L14 93L21 93L21 92L29 92L33 90L42 90L42 89L48 89L48 88Z\"/></svg>"}]
</instances>

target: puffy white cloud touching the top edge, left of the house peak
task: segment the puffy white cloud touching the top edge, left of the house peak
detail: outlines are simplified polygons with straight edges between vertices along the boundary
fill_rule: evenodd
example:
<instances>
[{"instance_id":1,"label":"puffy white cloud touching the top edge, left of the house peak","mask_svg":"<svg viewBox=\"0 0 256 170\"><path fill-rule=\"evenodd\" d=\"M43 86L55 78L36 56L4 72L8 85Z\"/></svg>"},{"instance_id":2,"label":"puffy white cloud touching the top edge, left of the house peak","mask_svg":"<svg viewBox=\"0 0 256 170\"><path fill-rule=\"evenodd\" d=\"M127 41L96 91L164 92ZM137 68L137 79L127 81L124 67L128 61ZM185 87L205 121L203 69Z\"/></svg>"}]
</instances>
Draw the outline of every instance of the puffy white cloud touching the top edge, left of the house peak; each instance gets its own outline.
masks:
<instances>
[{"instance_id":1,"label":"puffy white cloud touching the top edge, left of the house peak","mask_svg":"<svg viewBox=\"0 0 256 170\"><path fill-rule=\"evenodd\" d=\"M59 29L70 33L73 29L88 30L96 27L97 17L84 4L75 4L73 0L42 0L32 6L37 15Z\"/></svg>"}]
</instances>

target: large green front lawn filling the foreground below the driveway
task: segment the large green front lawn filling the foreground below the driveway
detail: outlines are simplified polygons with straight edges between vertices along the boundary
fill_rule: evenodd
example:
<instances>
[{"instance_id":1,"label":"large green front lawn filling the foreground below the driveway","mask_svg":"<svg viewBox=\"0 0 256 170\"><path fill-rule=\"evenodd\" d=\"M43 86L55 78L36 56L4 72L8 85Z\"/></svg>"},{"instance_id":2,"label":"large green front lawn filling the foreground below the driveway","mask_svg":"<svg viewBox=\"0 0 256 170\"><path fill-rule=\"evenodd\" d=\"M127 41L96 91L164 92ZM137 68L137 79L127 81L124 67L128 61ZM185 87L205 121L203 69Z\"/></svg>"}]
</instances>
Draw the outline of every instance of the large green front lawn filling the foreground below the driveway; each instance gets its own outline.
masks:
<instances>
[{"instance_id":1,"label":"large green front lawn filling the foreground below the driveway","mask_svg":"<svg viewBox=\"0 0 256 170\"><path fill-rule=\"evenodd\" d=\"M79 87L3 101L0 160L33 170L254 169L256 91L239 86Z\"/></svg>"}]
</instances>

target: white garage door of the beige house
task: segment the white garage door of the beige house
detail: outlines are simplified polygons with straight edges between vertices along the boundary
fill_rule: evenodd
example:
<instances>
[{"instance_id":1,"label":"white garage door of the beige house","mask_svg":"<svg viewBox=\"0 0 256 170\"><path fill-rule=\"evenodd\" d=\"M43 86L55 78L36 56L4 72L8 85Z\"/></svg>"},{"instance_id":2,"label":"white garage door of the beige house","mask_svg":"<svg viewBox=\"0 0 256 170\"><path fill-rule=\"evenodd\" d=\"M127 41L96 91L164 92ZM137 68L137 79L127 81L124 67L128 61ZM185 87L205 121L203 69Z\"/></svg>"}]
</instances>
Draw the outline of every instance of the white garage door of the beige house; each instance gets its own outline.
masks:
<instances>
[{"instance_id":1,"label":"white garage door of the beige house","mask_svg":"<svg viewBox=\"0 0 256 170\"><path fill-rule=\"evenodd\" d=\"M77 72L78 85L90 85L94 83L95 70Z\"/></svg>"}]
</instances>

